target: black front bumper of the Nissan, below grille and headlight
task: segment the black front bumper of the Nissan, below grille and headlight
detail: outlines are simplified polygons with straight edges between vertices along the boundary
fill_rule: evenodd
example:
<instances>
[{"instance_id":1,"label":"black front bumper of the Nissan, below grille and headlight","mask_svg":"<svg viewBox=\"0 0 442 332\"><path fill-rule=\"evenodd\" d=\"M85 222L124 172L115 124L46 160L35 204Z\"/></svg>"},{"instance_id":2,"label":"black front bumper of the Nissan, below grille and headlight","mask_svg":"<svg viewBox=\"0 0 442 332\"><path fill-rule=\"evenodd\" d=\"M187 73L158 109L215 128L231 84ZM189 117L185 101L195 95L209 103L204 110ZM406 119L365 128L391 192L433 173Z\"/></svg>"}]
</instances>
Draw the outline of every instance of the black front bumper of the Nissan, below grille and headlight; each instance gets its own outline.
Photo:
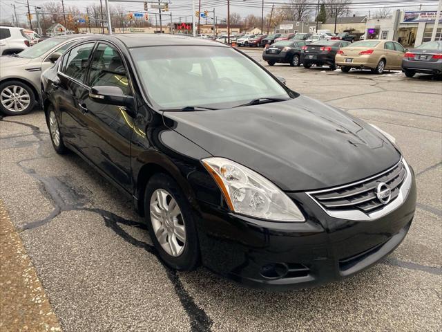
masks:
<instances>
[{"instance_id":1,"label":"black front bumper of the Nissan, below grille and headlight","mask_svg":"<svg viewBox=\"0 0 442 332\"><path fill-rule=\"evenodd\" d=\"M272 291L316 286L348 277L388 255L410 228L416 205L411 182L395 210L372 220L329 216L305 193L290 193L304 223L251 219L200 203L202 264L230 279Z\"/></svg>"}]
</instances>

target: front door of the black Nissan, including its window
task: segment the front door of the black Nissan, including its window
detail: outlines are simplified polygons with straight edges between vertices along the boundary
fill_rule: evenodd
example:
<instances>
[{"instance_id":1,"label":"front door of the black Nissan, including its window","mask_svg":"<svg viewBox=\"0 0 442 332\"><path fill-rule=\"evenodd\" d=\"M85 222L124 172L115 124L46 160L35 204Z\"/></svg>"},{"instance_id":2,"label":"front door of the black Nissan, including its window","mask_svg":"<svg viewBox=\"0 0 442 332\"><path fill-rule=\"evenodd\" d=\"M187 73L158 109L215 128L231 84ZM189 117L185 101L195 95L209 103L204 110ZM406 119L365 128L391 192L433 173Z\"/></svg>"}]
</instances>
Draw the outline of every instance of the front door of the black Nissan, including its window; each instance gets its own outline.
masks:
<instances>
[{"instance_id":1,"label":"front door of the black Nissan, including its window","mask_svg":"<svg viewBox=\"0 0 442 332\"><path fill-rule=\"evenodd\" d=\"M88 74L88 86L117 86L132 95L122 55L111 44L100 42L95 48ZM99 104L83 95L87 131L82 137L84 154L115 182L131 192L131 137L133 119L125 107ZM133 110L132 110L133 111Z\"/></svg>"}]
</instances>

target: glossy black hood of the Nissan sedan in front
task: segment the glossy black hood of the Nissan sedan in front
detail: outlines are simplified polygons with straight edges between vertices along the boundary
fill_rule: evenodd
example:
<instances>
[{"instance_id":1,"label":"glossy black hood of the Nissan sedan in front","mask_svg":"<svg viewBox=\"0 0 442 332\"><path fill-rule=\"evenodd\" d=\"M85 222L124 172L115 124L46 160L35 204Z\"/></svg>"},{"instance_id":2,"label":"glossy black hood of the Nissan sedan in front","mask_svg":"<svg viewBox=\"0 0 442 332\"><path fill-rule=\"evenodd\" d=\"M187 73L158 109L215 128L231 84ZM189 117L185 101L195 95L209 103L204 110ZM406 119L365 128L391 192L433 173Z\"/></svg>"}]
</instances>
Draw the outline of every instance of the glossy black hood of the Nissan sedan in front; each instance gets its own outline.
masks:
<instances>
[{"instance_id":1,"label":"glossy black hood of the Nissan sedan in front","mask_svg":"<svg viewBox=\"0 0 442 332\"><path fill-rule=\"evenodd\" d=\"M164 122L213 156L247 166L285 191L351 183L401 158L369 124L304 96L218 111L166 112Z\"/></svg>"}]
</instances>

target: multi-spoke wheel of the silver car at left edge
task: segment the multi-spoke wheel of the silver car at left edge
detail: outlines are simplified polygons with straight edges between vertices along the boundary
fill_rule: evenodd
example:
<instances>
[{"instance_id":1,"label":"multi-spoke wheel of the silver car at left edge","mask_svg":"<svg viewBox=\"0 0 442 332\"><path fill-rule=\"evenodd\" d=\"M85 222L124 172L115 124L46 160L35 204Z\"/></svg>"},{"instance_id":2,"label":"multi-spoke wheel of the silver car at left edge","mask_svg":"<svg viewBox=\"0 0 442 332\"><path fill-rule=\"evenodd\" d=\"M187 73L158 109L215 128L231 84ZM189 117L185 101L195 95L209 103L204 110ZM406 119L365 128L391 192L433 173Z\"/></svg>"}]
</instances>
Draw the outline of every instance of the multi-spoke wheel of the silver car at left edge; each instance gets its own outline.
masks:
<instances>
[{"instance_id":1,"label":"multi-spoke wheel of the silver car at left edge","mask_svg":"<svg viewBox=\"0 0 442 332\"><path fill-rule=\"evenodd\" d=\"M18 99L12 100L13 98ZM6 81L0 84L0 111L3 114L21 116L32 111L34 107L35 94L28 84L20 81Z\"/></svg>"}]
</instances>

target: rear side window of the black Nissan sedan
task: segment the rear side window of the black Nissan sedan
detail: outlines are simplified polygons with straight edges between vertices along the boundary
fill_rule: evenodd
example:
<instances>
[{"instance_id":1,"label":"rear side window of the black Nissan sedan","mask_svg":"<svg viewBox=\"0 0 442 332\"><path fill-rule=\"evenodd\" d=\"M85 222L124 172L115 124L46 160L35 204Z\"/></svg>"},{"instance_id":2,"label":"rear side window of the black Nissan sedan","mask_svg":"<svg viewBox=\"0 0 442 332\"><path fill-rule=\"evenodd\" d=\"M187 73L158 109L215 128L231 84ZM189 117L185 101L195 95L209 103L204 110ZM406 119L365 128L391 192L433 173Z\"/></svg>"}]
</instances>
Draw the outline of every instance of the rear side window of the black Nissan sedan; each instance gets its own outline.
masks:
<instances>
[{"instance_id":1,"label":"rear side window of the black Nissan sedan","mask_svg":"<svg viewBox=\"0 0 442 332\"><path fill-rule=\"evenodd\" d=\"M88 59L95 43L79 45L70 50L69 56L63 58L61 72L84 83L88 68Z\"/></svg>"}]
</instances>

